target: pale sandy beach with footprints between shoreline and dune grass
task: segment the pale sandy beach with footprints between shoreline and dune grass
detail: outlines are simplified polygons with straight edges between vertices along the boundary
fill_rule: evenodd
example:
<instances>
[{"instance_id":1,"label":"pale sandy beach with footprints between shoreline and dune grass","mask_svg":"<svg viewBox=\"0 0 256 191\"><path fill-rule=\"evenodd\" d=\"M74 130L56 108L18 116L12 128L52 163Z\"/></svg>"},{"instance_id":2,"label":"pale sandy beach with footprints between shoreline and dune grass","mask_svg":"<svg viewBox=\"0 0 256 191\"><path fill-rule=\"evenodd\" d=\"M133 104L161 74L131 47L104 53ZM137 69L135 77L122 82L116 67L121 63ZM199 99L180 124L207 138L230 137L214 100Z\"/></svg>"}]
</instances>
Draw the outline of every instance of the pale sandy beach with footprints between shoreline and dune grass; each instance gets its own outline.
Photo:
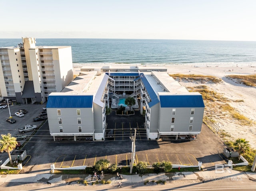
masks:
<instances>
[{"instance_id":1,"label":"pale sandy beach with footprints between shoreline and dune grass","mask_svg":"<svg viewBox=\"0 0 256 191\"><path fill-rule=\"evenodd\" d=\"M96 64L95 64L96 65ZM101 64L99 64L101 65ZM97 64L97 66L99 66ZM108 64L102 64L108 65ZM113 64L111 64L113 65ZM117 66L118 64L114 64ZM120 65L120 64L119 64ZM124 66L124 64L122 65ZM252 148L256 149L256 88L242 85L236 81L227 79L227 75L252 75L256 74L256 64L197 64L197 65L150 65L164 66L169 74L198 74L210 75L222 79L221 83L205 83L212 91L220 93L226 97L228 104L236 109L237 112L252 120L249 126L241 126L232 118L225 117L221 111L214 110L211 117L220 127L222 132L230 135L228 139L236 140L237 138L246 138ZM80 65L74 65L74 74L79 74ZM200 85L198 81L180 81L180 84L185 87L195 87ZM237 102L236 100L243 100Z\"/></svg>"}]
</instances>

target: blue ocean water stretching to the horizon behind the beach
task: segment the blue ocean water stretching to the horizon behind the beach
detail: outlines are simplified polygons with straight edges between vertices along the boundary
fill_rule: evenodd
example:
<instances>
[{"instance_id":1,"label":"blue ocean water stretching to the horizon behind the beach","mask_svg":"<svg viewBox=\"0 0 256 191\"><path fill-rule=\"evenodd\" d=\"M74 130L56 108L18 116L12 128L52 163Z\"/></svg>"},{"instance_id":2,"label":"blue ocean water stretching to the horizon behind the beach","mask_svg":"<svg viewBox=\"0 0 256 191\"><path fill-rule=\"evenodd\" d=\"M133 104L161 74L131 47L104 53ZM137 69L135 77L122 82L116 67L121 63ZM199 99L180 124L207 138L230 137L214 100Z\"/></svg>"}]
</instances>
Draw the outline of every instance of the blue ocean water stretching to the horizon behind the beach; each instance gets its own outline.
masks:
<instances>
[{"instance_id":1,"label":"blue ocean water stretching to the horizon behind the beach","mask_svg":"<svg viewBox=\"0 0 256 191\"><path fill-rule=\"evenodd\" d=\"M21 39L0 39L0 47ZM37 46L71 46L74 65L125 64L256 64L256 41L162 39L36 39Z\"/></svg>"}]
</instances>

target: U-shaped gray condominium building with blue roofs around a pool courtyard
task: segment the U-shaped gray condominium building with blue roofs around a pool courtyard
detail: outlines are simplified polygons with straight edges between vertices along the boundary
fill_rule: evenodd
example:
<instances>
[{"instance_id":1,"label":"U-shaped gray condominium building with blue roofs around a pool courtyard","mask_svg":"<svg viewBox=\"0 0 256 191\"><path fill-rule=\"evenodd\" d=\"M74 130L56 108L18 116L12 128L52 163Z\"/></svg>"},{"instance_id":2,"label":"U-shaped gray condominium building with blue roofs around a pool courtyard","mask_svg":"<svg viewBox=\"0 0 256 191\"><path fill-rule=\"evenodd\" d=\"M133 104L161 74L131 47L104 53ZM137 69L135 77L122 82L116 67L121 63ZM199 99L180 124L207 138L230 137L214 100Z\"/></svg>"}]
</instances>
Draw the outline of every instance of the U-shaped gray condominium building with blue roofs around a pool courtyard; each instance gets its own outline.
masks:
<instances>
[{"instance_id":1,"label":"U-shaped gray condominium building with blue roofs around a pool courtyard","mask_svg":"<svg viewBox=\"0 0 256 191\"><path fill-rule=\"evenodd\" d=\"M60 93L48 96L51 136L104 140L106 109L117 109L121 99L134 97L134 110L145 116L148 139L200 134L204 102L190 93L164 67L83 67ZM126 110L130 110L126 106Z\"/></svg>"}]
</instances>

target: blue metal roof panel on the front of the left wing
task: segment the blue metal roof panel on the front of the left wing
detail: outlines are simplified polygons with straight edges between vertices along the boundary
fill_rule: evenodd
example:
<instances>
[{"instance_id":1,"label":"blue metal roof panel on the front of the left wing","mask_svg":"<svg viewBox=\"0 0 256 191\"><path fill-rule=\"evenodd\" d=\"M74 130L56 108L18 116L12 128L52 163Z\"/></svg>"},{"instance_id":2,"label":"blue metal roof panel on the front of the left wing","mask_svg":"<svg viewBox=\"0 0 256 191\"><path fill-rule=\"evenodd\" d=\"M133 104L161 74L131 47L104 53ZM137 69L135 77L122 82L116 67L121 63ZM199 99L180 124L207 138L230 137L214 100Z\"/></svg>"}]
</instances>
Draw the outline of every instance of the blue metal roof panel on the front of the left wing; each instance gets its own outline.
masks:
<instances>
[{"instance_id":1,"label":"blue metal roof panel on the front of the left wing","mask_svg":"<svg viewBox=\"0 0 256 191\"><path fill-rule=\"evenodd\" d=\"M47 108L92 108L92 95L49 95Z\"/></svg>"}]
</instances>

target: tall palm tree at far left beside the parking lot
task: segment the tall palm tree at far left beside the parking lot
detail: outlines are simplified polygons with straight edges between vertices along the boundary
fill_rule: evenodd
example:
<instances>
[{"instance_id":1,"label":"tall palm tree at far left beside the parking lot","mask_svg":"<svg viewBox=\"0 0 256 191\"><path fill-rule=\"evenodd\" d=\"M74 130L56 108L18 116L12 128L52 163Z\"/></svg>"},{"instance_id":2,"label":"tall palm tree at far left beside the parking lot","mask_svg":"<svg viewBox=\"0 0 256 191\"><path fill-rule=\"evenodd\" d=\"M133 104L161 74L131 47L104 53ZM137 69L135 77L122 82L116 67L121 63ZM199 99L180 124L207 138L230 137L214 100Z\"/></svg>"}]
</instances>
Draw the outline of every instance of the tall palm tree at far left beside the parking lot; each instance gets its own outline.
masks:
<instances>
[{"instance_id":1,"label":"tall palm tree at far left beside the parking lot","mask_svg":"<svg viewBox=\"0 0 256 191\"><path fill-rule=\"evenodd\" d=\"M2 138L0 139L0 152L7 152L10 158L10 164L12 165L12 157L11 152L16 148L18 142L16 141L15 137L12 137L10 133L7 135L1 135Z\"/></svg>"}]
</instances>

